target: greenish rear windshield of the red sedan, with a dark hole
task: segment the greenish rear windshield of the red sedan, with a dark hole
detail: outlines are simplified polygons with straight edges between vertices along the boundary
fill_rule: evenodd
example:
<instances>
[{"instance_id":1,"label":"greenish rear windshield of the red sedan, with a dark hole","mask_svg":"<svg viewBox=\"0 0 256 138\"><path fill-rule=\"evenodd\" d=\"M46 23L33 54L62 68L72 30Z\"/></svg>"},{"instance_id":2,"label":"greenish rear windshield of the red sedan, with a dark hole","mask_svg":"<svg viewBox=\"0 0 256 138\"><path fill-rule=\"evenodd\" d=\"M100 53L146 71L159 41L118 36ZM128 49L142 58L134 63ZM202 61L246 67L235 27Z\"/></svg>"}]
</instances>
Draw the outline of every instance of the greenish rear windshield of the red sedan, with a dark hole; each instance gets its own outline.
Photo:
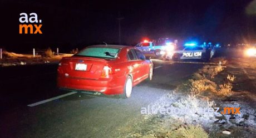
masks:
<instances>
[{"instance_id":1,"label":"greenish rear windshield of the red sedan, with a dark hole","mask_svg":"<svg viewBox=\"0 0 256 138\"><path fill-rule=\"evenodd\" d=\"M86 48L81 50L75 56L95 57L95 58L116 58L119 48Z\"/></svg>"}]
</instances>

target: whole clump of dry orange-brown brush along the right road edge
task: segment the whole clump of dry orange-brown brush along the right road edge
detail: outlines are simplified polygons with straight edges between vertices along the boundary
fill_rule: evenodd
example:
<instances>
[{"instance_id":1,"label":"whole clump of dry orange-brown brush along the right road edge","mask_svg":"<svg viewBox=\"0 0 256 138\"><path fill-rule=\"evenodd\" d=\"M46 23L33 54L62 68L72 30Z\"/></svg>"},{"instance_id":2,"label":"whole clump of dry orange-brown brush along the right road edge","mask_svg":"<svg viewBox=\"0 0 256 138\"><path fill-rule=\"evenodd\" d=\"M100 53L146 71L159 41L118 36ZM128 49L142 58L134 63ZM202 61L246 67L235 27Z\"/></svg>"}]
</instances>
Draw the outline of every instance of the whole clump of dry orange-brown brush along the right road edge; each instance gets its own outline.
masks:
<instances>
[{"instance_id":1,"label":"whole clump of dry orange-brown brush along the right road edge","mask_svg":"<svg viewBox=\"0 0 256 138\"><path fill-rule=\"evenodd\" d=\"M223 80L216 80L215 76L226 67L227 60L223 57L215 59L219 65L205 65L191 76L191 79L180 85L178 90L192 95L218 96L225 98L232 95L232 83L235 80L234 75L227 75Z\"/></svg>"}]
</instances>

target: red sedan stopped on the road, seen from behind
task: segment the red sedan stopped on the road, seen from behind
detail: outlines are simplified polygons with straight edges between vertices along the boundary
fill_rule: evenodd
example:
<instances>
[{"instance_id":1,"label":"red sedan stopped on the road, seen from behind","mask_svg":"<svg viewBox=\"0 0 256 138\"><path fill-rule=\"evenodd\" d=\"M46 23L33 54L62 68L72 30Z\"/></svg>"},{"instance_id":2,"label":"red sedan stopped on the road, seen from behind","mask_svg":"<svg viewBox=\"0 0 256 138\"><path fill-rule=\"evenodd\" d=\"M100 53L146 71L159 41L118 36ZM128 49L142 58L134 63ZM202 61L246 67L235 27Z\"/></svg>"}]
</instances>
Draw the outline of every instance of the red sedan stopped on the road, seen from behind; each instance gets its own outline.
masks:
<instances>
[{"instance_id":1,"label":"red sedan stopped on the road, seen from behind","mask_svg":"<svg viewBox=\"0 0 256 138\"><path fill-rule=\"evenodd\" d=\"M72 91L131 96L132 87L152 79L153 64L140 50L120 45L93 45L62 58L58 87Z\"/></svg>"}]
</instances>

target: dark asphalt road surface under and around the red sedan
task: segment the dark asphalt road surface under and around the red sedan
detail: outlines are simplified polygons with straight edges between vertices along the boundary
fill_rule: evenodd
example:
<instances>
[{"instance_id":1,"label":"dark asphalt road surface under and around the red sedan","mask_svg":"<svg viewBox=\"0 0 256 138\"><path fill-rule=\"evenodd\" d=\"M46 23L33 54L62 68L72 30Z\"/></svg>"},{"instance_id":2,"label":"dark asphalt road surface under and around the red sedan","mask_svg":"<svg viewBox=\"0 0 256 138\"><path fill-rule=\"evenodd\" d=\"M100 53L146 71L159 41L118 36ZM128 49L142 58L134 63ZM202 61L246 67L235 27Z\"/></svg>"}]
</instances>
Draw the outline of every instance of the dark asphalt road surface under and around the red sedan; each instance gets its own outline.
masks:
<instances>
[{"instance_id":1,"label":"dark asphalt road surface under and around the red sedan","mask_svg":"<svg viewBox=\"0 0 256 138\"><path fill-rule=\"evenodd\" d=\"M119 137L143 119L141 108L170 93L203 64L154 60L152 81L135 86L129 99L56 89L56 64L0 68L0 137Z\"/></svg>"}]
</instances>

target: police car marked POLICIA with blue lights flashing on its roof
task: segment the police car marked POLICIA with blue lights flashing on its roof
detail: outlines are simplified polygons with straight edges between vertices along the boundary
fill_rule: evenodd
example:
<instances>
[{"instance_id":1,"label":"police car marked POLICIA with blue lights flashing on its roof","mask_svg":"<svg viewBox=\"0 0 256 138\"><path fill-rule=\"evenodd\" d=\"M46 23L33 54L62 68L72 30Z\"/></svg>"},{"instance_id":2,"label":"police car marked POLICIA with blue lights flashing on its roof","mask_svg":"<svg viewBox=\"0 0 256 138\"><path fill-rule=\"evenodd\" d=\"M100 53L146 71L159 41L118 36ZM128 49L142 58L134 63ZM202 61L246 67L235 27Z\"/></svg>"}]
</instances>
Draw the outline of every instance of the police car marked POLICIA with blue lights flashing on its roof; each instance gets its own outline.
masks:
<instances>
[{"instance_id":1,"label":"police car marked POLICIA with blue lights flashing on its roof","mask_svg":"<svg viewBox=\"0 0 256 138\"><path fill-rule=\"evenodd\" d=\"M174 61L200 59L209 61L215 53L214 47L207 45L202 47L196 44L185 44L173 51L167 52L165 59L173 59Z\"/></svg>"}]
</instances>

